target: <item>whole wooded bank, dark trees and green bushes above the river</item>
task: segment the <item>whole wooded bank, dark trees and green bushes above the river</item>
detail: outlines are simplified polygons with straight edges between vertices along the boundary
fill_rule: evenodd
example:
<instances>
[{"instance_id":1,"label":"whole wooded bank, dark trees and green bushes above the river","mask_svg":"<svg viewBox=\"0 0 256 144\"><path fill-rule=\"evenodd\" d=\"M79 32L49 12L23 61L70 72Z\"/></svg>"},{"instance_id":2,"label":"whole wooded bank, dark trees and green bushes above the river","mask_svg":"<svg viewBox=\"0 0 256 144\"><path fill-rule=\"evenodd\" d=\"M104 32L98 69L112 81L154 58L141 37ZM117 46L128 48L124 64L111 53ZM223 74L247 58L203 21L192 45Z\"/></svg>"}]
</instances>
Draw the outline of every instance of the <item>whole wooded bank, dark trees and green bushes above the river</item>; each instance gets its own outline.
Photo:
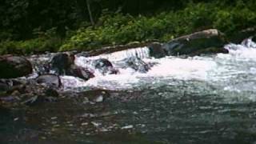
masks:
<instances>
[{"instance_id":1,"label":"whole wooded bank, dark trees and green bushes above the river","mask_svg":"<svg viewBox=\"0 0 256 144\"><path fill-rule=\"evenodd\" d=\"M2 0L0 52L90 50L256 23L254 0Z\"/></svg>"}]
</instances>

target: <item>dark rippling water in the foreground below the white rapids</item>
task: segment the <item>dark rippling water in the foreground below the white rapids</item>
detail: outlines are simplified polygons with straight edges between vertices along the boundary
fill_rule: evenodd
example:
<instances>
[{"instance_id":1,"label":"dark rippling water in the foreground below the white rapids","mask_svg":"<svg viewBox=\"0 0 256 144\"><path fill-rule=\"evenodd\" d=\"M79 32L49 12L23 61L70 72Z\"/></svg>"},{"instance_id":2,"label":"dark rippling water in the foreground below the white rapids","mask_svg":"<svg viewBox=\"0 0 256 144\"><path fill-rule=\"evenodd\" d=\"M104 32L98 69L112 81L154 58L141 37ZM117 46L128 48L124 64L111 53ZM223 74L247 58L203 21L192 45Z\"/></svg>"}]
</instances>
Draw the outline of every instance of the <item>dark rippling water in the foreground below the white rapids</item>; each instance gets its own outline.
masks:
<instances>
[{"instance_id":1,"label":"dark rippling water in the foreground below the white rapids","mask_svg":"<svg viewBox=\"0 0 256 144\"><path fill-rule=\"evenodd\" d=\"M2 143L254 143L255 102L226 102L206 82L66 93L0 109Z\"/></svg>"}]
</instances>

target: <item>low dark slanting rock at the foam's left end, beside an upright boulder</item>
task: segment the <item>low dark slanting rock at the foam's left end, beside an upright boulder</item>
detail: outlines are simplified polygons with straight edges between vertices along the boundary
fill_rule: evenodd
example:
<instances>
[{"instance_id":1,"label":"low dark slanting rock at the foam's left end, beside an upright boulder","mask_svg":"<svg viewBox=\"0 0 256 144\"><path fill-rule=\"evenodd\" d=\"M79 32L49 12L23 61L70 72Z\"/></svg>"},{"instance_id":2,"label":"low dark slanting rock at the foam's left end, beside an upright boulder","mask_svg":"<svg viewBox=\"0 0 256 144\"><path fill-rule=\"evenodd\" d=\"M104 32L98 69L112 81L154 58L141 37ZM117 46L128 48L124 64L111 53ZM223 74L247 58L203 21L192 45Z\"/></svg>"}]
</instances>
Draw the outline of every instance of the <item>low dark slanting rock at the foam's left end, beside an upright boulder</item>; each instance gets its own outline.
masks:
<instances>
[{"instance_id":1,"label":"low dark slanting rock at the foam's left end, beside an upright boulder","mask_svg":"<svg viewBox=\"0 0 256 144\"><path fill-rule=\"evenodd\" d=\"M70 69L67 70L66 74L82 78L86 81L90 78L94 78L94 74L90 70L83 68L81 66L71 66Z\"/></svg>"}]
</instances>

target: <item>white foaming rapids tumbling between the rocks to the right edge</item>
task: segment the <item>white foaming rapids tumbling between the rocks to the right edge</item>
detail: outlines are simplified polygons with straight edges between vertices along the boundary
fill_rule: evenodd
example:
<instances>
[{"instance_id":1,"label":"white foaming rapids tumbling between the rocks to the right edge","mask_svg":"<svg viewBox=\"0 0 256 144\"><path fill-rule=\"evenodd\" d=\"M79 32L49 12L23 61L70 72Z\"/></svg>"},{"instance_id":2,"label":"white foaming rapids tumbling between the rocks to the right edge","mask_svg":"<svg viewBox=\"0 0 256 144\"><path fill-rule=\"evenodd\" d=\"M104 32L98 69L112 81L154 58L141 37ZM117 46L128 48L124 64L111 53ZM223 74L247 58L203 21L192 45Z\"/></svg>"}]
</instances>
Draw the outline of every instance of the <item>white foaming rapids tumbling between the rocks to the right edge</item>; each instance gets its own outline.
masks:
<instances>
[{"instance_id":1,"label":"white foaming rapids tumbling between the rocks to the right edge","mask_svg":"<svg viewBox=\"0 0 256 144\"><path fill-rule=\"evenodd\" d=\"M95 57L77 56L75 64L88 67L88 60L106 58L118 68L119 74L102 75L85 82L82 79L63 76L65 90L96 88L104 90L132 90L138 87L163 86L180 81L207 82L222 90L256 91L256 43L246 39L242 44L229 44L225 48L229 54L213 54L189 58L169 56L165 58L150 57L148 47L123 50L112 54ZM144 62L154 63L150 71L141 74L131 69L118 67L124 58L136 56Z\"/></svg>"}]
</instances>

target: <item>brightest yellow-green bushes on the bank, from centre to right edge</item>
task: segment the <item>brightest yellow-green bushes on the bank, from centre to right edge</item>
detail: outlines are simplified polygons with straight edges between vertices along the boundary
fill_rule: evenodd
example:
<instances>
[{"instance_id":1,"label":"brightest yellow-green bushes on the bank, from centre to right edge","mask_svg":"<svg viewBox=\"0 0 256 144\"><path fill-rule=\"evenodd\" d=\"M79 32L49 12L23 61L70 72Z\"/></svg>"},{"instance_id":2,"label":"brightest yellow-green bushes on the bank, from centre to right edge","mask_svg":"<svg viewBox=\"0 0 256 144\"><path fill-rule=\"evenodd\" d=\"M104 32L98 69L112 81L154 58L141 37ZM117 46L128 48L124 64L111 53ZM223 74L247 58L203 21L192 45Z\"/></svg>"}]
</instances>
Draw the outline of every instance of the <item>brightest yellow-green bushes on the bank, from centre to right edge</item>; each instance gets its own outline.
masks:
<instances>
[{"instance_id":1,"label":"brightest yellow-green bushes on the bank, from centre to right edge","mask_svg":"<svg viewBox=\"0 0 256 144\"><path fill-rule=\"evenodd\" d=\"M219 6L217 3L189 3L184 10L150 17L108 14L100 20L101 26L79 29L61 50L92 50L98 46L151 39L166 42L179 35L207 28L232 34L235 30L254 26L256 13L242 6L241 2L233 7Z\"/></svg>"}]
</instances>

